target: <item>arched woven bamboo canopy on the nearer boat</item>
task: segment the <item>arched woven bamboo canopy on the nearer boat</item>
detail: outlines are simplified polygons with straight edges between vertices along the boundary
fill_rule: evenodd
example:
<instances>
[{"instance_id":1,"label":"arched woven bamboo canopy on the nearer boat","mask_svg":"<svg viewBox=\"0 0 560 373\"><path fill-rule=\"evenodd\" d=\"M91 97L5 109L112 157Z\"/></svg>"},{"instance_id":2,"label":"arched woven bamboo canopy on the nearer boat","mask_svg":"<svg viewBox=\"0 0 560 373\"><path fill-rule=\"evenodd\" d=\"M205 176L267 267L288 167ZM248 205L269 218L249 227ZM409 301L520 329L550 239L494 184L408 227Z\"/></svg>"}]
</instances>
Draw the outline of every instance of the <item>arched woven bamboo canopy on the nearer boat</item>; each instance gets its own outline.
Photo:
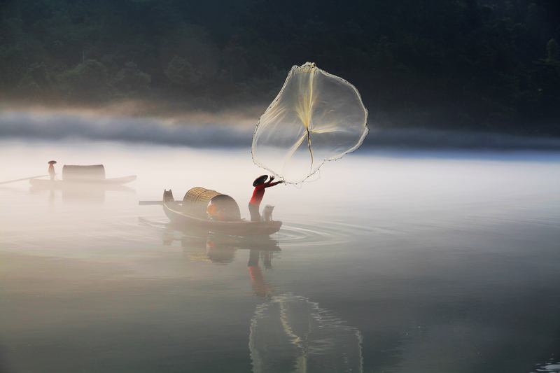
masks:
<instances>
[{"instance_id":1,"label":"arched woven bamboo canopy on the nearer boat","mask_svg":"<svg viewBox=\"0 0 560 373\"><path fill-rule=\"evenodd\" d=\"M208 218L208 204L212 202L218 209L228 211L229 220L241 220L241 212L235 199L228 195L223 195L216 190L196 187L190 189L183 197L183 213L197 218Z\"/></svg>"}]
</instances>

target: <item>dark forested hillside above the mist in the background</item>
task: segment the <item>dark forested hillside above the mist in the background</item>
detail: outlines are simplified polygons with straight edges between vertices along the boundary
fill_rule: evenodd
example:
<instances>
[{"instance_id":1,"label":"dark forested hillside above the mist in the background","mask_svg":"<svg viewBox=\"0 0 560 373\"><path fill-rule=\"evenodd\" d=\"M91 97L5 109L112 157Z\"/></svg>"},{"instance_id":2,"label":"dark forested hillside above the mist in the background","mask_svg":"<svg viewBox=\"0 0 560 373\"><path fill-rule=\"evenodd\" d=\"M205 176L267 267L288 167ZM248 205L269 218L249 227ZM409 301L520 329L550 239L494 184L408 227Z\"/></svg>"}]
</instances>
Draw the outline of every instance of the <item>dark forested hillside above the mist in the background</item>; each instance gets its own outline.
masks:
<instances>
[{"instance_id":1,"label":"dark forested hillside above the mist in the background","mask_svg":"<svg viewBox=\"0 0 560 373\"><path fill-rule=\"evenodd\" d=\"M560 135L559 43L557 0L3 1L0 93L218 110L309 61L379 125Z\"/></svg>"}]
</instances>

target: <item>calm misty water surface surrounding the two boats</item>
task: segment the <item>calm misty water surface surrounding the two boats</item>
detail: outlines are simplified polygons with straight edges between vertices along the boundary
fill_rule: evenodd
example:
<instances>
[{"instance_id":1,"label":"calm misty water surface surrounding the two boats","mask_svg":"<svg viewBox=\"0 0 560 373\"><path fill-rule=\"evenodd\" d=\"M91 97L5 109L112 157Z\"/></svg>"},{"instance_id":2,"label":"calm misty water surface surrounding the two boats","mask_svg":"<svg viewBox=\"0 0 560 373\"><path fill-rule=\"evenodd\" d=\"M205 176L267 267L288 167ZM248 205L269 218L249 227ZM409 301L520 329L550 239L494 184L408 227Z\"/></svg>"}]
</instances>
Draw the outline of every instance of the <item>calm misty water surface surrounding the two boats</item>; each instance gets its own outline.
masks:
<instances>
[{"instance_id":1,"label":"calm misty water surface surrounding the two boats","mask_svg":"<svg viewBox=\"0 0 560 373\"><path fill-rule=\"evenodd\" d=\"M250 150L0 143L114 190L0 185L0 372L560 372L560 155L359 150L267 190L279 234L181 232L195 186L241 215Z\"/></svg>"}]
</instances>

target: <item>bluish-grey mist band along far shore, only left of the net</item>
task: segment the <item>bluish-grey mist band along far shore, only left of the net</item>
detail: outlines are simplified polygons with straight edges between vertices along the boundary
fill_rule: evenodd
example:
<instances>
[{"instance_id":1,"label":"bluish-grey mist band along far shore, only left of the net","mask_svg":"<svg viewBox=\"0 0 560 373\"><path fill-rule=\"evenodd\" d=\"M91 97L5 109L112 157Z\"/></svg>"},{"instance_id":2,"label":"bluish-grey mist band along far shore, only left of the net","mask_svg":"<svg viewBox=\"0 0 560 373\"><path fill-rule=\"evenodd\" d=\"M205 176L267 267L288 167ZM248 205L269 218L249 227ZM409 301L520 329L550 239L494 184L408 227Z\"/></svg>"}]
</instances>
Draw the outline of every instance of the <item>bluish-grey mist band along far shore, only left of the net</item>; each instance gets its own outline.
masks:
<instances>
[{"instance_id":1,"label":"bluish-grey mist band along far shore, only left of the net","mask_svg":"<svg viewBox=\"0 0 560 373\"><path fill-rule=\"evenodd\" d=\"M256 122L255 122L256 123ZM133 118L73 113L0 113L0 137L48 141L118 141L169 146L251 146L254 125L241 113L192 113L174 118Z\"/></svg>"}]
</instances>

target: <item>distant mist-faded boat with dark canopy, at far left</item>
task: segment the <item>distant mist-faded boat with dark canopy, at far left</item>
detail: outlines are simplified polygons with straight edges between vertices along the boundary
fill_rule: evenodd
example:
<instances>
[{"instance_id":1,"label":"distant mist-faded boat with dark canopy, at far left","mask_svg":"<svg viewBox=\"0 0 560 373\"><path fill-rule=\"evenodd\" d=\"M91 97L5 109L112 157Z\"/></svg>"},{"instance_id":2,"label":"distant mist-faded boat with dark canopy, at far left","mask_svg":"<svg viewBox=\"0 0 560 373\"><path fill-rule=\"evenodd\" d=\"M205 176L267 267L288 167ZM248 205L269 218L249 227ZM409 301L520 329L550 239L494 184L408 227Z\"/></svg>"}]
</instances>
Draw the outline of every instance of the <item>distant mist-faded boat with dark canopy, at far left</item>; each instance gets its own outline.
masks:
<instances>
[{"instance_id":1,"label":"distant mist-faded boat with dark canopy, at far left","mask_svg":"<svg viewBox=\"0 0 560 373\"><path fill-rule=\"evenodd\" d=\"M41 180L32 178L29 180L35 188L60 189L64 187L75 188L99 188L103 186L123 185L135 181L136 175L121 178L105 178L105 167L103 164L87 166L64 165L62 167L62 180Z\"/></svg>"}]
</instances>

